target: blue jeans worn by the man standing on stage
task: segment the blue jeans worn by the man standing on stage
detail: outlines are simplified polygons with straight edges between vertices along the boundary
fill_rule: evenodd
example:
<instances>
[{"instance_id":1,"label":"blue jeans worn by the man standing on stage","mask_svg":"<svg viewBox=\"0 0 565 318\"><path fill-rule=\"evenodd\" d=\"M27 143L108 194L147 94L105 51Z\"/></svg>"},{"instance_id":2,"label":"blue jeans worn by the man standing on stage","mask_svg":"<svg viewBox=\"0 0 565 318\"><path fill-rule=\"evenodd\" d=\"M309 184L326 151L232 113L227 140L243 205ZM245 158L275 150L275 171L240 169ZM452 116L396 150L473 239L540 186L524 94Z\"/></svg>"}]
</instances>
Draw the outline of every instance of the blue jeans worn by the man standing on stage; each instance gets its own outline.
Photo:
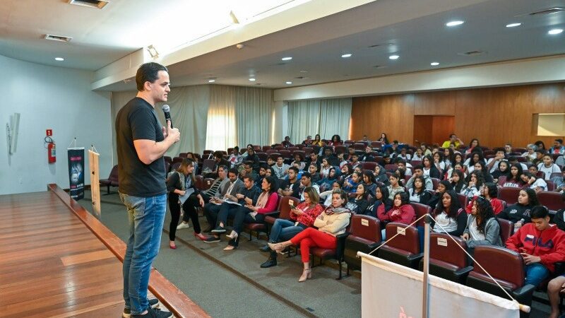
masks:
<instances>
[{"instance_id":1,"label":"blue jeans worn by the man standing on stage","mask_svg":"<svg viewBox=\"0 0 565 318\"><path fill-rule=\"evenodd\" d=\"M124 300L131 314L141 314L149 307L149 274L159 252L167 194L142 198L120 193L119 197L128 209L129 224L123 267Z\"/></svg>"}]
</instances>

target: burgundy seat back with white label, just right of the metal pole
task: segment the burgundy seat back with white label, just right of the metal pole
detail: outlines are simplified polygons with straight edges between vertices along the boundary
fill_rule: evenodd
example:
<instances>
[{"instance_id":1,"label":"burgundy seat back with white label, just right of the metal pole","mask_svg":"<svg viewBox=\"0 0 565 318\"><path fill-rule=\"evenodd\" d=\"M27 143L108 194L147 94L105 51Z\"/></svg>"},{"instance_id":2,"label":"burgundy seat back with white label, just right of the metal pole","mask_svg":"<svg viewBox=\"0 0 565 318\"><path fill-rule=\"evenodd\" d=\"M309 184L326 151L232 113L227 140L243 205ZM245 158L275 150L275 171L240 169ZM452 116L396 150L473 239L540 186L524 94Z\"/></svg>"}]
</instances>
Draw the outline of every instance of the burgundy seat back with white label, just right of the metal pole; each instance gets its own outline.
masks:
<instances>
[{"instance_id":1,"label":"burgundy seat back with white label, just right of the metal pole","mask_svg":"<svg viewBox=\"0 0 565 318\"><path fill-rule=\"evenodd\" d=\"M453 242L455 240L456 242ZM456 244L463 247L457 246ZM467 254L464 249L467 249L467 243L459 237L454 237L446 233L430 233L429 235L429 258L445 262L451 266L456 266L458 269L468 265Z\"/></svg>"}]
</instances>

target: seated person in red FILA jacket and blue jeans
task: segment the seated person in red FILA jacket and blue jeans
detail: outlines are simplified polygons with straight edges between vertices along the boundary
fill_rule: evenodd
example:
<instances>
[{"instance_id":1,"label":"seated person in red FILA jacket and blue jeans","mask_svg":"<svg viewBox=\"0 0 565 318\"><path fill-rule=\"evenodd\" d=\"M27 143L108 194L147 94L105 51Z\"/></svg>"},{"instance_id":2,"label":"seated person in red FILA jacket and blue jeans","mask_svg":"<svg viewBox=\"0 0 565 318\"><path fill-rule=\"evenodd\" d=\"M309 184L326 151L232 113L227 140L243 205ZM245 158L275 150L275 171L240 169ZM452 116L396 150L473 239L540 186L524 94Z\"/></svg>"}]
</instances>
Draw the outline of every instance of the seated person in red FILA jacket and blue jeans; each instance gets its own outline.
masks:
<instances>
[{"instance_id":1,"label":"seated person in red FILA jacket and blue jeans","mask_svg":"<svg viewBox=\"0 0 565 318\"><path fill-rule=\"evenodd\" d=\"M565 261L565 232L549 224L545 206L534 206L530 218L531 223L506 240L506 247L522 255L525 283L537 286L554 271L555 263Z\"/></svg>"}]
</instances>

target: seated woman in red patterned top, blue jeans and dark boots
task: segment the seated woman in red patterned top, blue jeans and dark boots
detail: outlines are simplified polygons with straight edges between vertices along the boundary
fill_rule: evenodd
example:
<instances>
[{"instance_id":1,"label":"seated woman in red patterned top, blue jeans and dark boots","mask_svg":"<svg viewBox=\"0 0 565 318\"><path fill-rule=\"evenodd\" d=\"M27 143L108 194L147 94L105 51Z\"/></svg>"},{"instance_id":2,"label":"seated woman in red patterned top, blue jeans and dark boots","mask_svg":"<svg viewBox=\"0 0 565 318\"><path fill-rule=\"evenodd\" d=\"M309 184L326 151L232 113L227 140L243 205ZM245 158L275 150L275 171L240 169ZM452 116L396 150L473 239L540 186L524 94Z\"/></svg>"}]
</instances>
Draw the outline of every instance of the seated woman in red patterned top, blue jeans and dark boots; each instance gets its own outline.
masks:
<instances>
[{"instance_id":1,"label":"seated woman in red patterned top, blue jeans and dark boots","mask_svg":"<svg viewBox=\"0 0 565 318\"><path fill-rule=\"evenodd\" d=\"M304 202L293 207L290 211L290 220L278 218L270 229L269 243L284 242L295 237L299 232L314 226L314 220L322 213L323 207L318 203L319 196L316 189L307 187L304 189ZM270 249L268 245L261 248L262 252L270 252L269 258L261 264L266 269L277 264L277 252Z\"/></svg>"}]
</instances>

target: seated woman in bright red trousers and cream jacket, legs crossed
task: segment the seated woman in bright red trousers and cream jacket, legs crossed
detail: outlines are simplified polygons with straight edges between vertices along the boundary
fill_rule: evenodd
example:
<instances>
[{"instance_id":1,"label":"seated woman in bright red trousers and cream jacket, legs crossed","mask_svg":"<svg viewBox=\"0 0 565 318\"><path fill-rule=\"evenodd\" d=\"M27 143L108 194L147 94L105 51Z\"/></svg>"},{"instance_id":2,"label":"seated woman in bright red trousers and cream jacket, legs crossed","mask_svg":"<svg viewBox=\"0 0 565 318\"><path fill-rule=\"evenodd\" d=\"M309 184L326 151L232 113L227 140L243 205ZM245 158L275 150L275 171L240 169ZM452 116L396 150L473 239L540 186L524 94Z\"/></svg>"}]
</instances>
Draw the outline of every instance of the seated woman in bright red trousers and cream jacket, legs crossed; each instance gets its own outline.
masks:
<instances>
[{"instance_id":1,"label":"seated woman in bright red trousers and cream jacket, legs crossed","mask_svg":"<svg viewBox=\"0 0 565 318\"><path fill-rule=\"evenodd\" d=\"M336 235L345 233L345 228L349 224L351 211L345 208L347 204L347 193L341 189L337 189L331 195L331 206L328 206L314 220L314 226L318 228L307 228L299 232L289 241L282 243L268 243L270 249L280 252L289 245L300 245L300 254L302 255L302 263L304 263L304 271L300 276L300 282L306 281L312 277L310 269L310 248L321 247L323 249L335 249L338 245Z\"/></svg>"}]
</instances>

